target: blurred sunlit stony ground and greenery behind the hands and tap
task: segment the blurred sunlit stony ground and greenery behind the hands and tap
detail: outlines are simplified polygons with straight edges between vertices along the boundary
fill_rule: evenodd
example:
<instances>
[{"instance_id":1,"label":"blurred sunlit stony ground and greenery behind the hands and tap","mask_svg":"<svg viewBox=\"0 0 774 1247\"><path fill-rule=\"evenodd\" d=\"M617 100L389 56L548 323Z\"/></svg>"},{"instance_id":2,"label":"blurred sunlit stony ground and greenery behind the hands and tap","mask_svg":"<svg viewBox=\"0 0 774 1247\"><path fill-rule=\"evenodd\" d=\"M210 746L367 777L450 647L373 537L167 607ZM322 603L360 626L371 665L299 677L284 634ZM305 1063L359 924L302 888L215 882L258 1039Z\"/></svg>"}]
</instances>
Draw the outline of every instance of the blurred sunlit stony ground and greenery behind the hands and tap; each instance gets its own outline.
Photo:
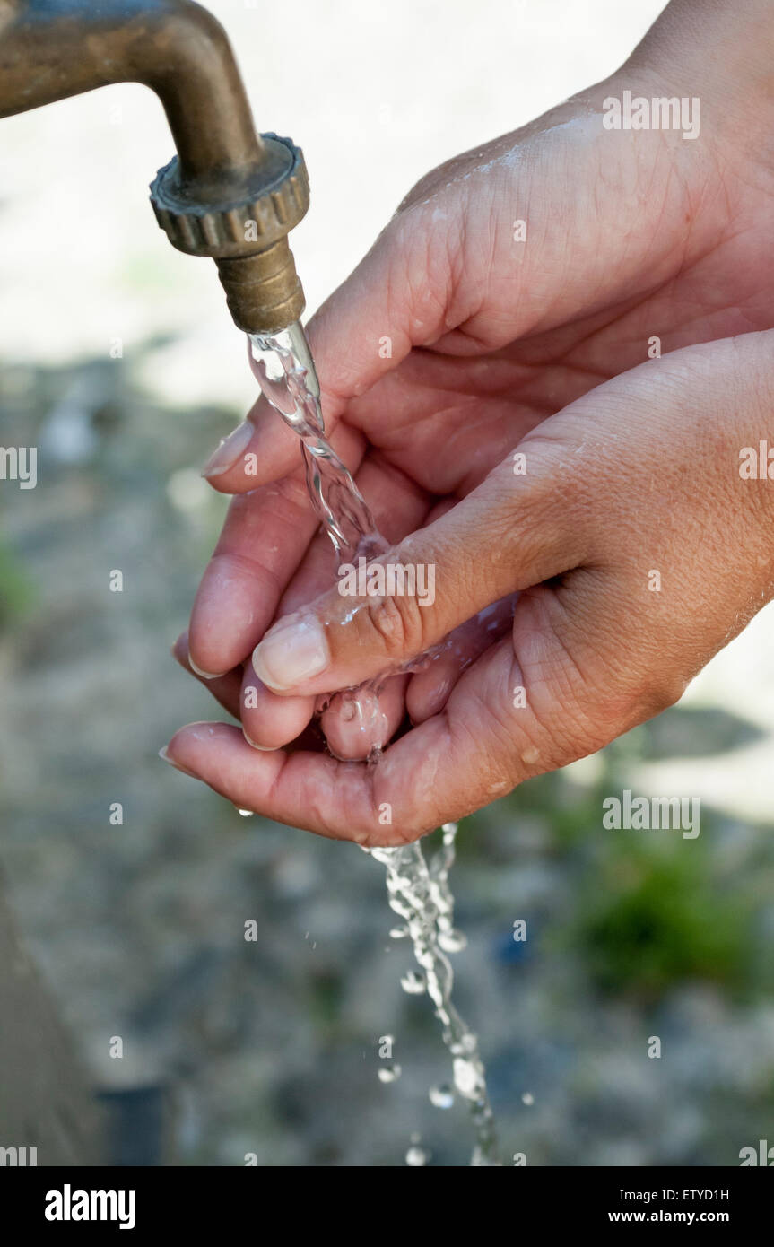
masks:
<instances>
[{"instance_id":1,"label":"blurred sunlit stony ground and greenery behind the hands and tap","mask_svg":"<svg viewBox=\"0 0 774 1247\"><path fill-rule=\"evenodd\" d=\"M304 148L292 242L314 308L420 175L611 72L663 5L209 7L259 128ZM428 1097L447 1061L399 986L381 868L157 758L213 715L168 646L224 511L199 466L254 398L214 266L153 219L171 155L140 86L0 122L0 443L39 448L35 490L0 484L0 909L102 1094L113 1162L390 1166L418 1135L431 1165L465 1163L464 1110ZM734 1165L772 1137L773 625L769 607L678 707L462 828L456 996L506 1163ZM699 838L604 831L627 787L698 796ZM72 1122L39 1140L14 1106L37 1057L14 1050L0 1145L40 1141L45 1163Z\"/></svg>"}]
</instances>

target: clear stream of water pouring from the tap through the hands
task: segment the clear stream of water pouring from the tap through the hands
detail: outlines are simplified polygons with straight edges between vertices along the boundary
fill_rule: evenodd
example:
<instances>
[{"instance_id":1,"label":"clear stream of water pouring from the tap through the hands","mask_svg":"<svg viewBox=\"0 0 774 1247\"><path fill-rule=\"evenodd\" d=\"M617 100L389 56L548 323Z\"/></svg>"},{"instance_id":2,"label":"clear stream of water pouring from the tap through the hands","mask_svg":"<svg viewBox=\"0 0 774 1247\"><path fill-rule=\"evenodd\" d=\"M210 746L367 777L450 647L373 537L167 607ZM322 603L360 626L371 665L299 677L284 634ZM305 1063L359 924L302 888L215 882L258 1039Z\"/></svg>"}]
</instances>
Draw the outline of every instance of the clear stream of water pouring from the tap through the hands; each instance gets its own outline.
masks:
<instances>
[{"instance_id":1,"label":"clear stream of water pouring from the tap through the hands","mask_svg":"<svg viewBox=\"0 0 774 1247\"><path fill-rule=\"evenodd\" d=\"M299 322L282 333L248 338L253 373L270 405L283 418L302 445L309 499L328 532L339 562L355 562L358 557L378 559L389 549L351 474L325 438L320 409L320 388ZM401 668L419 670L428 656ZM390 675L393 672L388 672ZM356 716L364 732L373 731L379 717L379 690L385 677L369 681L359 688L340 695L349 702L350 717ZM328 705L318 702L318 712ZM371 749L368 764L379 764L380 749ZM404 990L430 996L441 1024L444 1044L452 1061L456 1094L467 1102L475 1131L471 1165L499 1165L492 1110L486 1089L486 1071L479 1052L479 1041L451 1000L454 971L449 954L465 946L465 938L454 928L454 897L449 872L454 864L456 824L441 829L441 845L428 859L420 840L399 848L366 849L386 868L390 908L401 919L393 928L394 939L409 938L419 970L401 979ZM396 1067L393 1076L398 1077ZM449 1107L454 1092L449 1087L430 1091L432 1104ZM406 1163L426 1163L426 1152L416 1142L406 1152Z\"/></svg>"}]
</instances>

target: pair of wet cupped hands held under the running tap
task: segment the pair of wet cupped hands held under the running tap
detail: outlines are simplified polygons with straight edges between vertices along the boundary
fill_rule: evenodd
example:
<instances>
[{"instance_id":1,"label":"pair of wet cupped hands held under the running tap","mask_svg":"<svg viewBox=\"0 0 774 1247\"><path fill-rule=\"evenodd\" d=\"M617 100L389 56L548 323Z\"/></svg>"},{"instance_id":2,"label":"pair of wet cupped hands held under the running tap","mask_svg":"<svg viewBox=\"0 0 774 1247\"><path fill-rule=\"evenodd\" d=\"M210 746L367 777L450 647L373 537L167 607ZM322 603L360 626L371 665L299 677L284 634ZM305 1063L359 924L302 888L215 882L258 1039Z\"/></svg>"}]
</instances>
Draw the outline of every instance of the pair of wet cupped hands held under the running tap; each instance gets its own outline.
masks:
<instances>
[{"instance_id":1,"label":"pair of wet cupped hands held under the running tap","mask_svg":"<svg viewBox=\"0 0 774 1247\"><path fill-rule=\"evenodd\" d=\"M679 0L612 79L411 191L309 337L383 561L432 565L435 601L342 596L259 400L206 468L233 500L174 647L239 726L182 728L176 767L404 843L672 705L774 595L774 479L739 470L774 448L765 22ZM606 130L624 90L699 96L699 137ZM318 696L385 671L379 764L335 702L327 749Z\"/></svg>"}]
</instances>

